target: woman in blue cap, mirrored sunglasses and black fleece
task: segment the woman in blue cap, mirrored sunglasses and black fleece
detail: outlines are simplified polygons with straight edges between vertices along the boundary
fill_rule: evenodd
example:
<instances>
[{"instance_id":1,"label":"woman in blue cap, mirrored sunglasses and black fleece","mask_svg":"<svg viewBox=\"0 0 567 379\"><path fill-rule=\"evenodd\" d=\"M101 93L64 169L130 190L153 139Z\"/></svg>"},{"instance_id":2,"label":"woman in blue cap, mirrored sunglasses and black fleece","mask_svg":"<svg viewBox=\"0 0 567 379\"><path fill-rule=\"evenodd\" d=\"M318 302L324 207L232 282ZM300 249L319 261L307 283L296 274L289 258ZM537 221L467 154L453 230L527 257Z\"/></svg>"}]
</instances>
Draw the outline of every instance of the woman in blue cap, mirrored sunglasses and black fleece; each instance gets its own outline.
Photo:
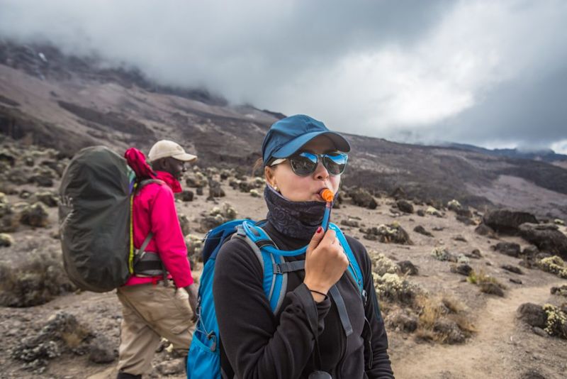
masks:
<instances>
[{"instance_id":1,"label":"woman in blue cap, mirrored sunglasses and black fleece","mask_svg":"<svg viewBox=\"0 0 567 379\"><path fill-rule=\"evenodd\" d=\"M335 231L320 227L320 192L337 193L349 150L342 136L309 116L287 117L268 131L262 159L269 212L262 227L281 250L308 245L305 255L288 258L304 259L305 270L288 273L286 297L274 315L252 249L239 238L223 245L213 295L228 378L232 370L241 379L393 378L369 256L347 236L364 278L365 301L345 273L349 261ZM329 296L333 287L339 300ZM352 331L346 332L342 309Z\"/></svg>"}]
</instances>

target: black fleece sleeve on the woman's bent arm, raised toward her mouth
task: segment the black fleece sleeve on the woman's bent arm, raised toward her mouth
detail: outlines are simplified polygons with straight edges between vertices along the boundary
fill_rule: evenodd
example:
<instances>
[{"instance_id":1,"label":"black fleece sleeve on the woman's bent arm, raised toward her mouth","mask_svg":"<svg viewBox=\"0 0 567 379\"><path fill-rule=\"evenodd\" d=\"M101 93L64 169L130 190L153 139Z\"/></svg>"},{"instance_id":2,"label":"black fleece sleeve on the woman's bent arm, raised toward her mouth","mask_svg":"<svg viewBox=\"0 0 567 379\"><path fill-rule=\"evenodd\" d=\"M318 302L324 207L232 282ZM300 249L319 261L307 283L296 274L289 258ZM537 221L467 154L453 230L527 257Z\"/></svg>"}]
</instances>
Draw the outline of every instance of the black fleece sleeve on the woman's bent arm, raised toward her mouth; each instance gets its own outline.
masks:
<instances>
[{"instance_id":1,"label":"black fleece sleeve on the woman's bent arm, raised toward her mouth","mask_svg":"<svg viewBox=\"0 0 567 379\"><path fill-rule=\"evenodd\" d=\"M225 354L238 378L299 378L315 334L324 328L330 300L316 303L299 285L287 293L289 303L278 324L262 289L263 276L244 241L232 239L220 249L213 296Z\"/></svg>"}]
</instances>

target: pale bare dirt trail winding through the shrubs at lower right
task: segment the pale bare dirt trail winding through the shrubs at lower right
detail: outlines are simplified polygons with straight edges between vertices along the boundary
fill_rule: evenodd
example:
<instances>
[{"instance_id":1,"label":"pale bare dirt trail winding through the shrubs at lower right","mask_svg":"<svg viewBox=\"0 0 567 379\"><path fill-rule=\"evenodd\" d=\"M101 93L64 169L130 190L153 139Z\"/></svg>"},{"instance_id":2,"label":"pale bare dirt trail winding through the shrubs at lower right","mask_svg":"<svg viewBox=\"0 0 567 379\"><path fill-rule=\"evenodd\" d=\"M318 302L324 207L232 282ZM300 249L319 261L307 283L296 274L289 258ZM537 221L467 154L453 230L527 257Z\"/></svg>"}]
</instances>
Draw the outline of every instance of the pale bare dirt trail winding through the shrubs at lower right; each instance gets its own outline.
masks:
<instances>
[{"instance_id":1,"label":"pale bare dirt trail winding through the shrubs at lower right","mask_svg":"<svg viewBox=\"0 0 567 379\"><path fill-rule=\"evenodd\" d=\"M518 353L516 310L524 302L544 304L549 288L562 284L520 287L507 291L505 298L490 297L478 312L478 332L470 341L460 346L412 346L393 365L396 378L517 378L520 373L511 370Z\"/></svg>"}]
</instances>

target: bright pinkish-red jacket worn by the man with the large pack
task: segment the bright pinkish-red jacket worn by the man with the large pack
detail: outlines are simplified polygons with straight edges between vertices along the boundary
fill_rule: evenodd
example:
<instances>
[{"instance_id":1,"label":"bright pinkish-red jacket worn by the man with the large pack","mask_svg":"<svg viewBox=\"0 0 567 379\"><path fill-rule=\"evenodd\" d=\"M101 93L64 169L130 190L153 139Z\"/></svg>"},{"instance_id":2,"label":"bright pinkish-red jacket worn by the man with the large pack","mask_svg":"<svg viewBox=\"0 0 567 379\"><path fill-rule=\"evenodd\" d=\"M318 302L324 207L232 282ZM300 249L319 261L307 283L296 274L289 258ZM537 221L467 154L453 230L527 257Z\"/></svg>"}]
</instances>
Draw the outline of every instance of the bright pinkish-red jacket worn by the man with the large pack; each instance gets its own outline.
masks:
<instances>
[{"instance_id":1,"label":"bright pinkish-red jacket worn by the man with the large pack","mask_svg":"<svg viewBox=\"0 0 567 379\"><path fill-rule=\"evenodd\" d=\"M157 252L170 273L176 287L193 284L191 266L187 259L185 238L181 233L172 188L180 187L179 182L168 172L156 172L165 184L150 183L140 189L134 197L133 224L134 246L140 248L150 231L154 236L146 251ZM140 278L135 275L125 285L139 285L156 282L154 278Z\"/></svg>"}]
</instances>

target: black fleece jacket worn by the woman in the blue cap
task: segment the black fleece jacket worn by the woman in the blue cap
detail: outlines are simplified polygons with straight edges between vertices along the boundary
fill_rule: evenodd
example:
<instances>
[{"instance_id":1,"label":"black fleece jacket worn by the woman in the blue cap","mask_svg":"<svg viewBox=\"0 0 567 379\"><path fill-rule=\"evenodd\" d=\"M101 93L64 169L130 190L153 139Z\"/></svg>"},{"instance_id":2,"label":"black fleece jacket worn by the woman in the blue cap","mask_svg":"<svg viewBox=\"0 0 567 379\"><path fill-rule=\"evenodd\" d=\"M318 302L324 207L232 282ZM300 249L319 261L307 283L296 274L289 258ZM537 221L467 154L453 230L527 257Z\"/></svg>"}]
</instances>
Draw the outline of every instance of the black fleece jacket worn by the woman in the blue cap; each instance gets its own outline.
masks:
<instances>
[{"instance_id":1,"label":"black fleece jacket worn by the woman in the blue cap","mask_svg":"<svg viewBox=\"0 0 567 379\"><path fill-rule=\"evenodd\" d=\"M295 250L309 242L284 236L270 224L264 230L282 250ZM365 307L347 273L337 282L354 329L349 337L344 334L335 302L330 298L313 301L303 285L303 270L288 273L288 292L274 316L262 289L262 266L252 249L238 238L225 243L218 253L213 282L223 370L234 370L235 378L240 379L308 378L314 370L325 370L332 378L393 378L371 261L359 241L349 236L347 241L368 293ZM305 255L286 258L303 259ZM366 331L371 330L371 337L366 339L371 348L363 337L365 319L369 323ZM315 334L320 363L314 353Z\"/></svg>"}]
</instances>

